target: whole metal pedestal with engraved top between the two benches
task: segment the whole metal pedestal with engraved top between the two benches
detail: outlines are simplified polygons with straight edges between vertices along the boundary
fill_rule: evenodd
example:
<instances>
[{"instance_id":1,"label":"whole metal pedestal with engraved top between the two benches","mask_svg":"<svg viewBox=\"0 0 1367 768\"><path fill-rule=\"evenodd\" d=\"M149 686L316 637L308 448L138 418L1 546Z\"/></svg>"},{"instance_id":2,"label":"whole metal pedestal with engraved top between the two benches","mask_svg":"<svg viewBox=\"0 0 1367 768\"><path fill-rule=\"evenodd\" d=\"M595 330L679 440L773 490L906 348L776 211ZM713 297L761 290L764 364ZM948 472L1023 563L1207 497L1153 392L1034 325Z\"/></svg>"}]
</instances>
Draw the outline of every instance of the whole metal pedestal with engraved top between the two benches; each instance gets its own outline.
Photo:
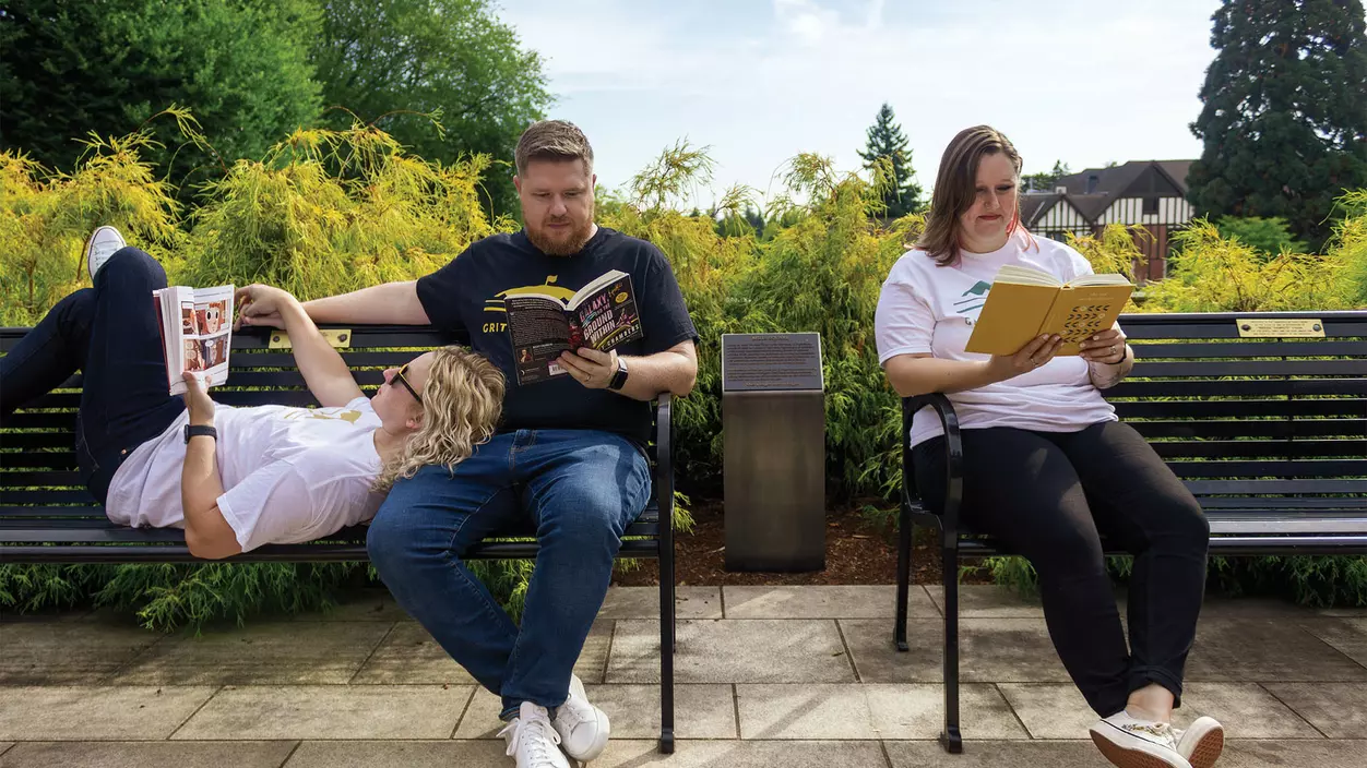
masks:
<instances>
[{"instance_id":1,"label":"whole metal pedestal with engraved top between the two benches","mask_svg":"<svg viewBox=\"0 0 1367 768\"><path fill-rule=\"evenodd\" d=\"M826 567L820 333L723 333L726 570Z\"/></svg>"}]
</instances>

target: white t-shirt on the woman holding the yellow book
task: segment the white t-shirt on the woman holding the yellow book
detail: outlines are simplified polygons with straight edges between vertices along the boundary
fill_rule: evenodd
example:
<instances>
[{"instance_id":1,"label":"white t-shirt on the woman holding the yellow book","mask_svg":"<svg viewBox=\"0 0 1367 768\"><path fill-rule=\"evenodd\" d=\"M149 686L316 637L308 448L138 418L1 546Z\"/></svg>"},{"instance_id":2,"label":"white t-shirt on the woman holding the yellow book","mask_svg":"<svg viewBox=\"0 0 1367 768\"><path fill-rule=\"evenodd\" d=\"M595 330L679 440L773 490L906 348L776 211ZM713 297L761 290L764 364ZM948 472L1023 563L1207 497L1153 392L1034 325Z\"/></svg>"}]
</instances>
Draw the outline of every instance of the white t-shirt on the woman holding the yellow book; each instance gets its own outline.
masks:
<instances>
[{"instance_id":1,"label":"white t-shirt on the woman holding the yellow book","mask_svg":"<svg viewBox=\"0 0 1367 768\"><path fill-rule=\"evenodd\" d=\"M964 253L960 264L938 266L923 250L912 250L893 265L878 299L875 328L878 362L902 354L930 353L940 359L983 361L966 353L968 336L997 277L1006 264L1043 269L1068 282L1091 275L1091 264L1076 250L1046 238L1016 234L992 253ZM964 429L1014 426L1038 432L1076 432L1115 420L1080 357L1055 357L1014 379L946 395ZM923 409L912 421L910 444L943 435L939 417Z\"/></svg>"}]
</instances>

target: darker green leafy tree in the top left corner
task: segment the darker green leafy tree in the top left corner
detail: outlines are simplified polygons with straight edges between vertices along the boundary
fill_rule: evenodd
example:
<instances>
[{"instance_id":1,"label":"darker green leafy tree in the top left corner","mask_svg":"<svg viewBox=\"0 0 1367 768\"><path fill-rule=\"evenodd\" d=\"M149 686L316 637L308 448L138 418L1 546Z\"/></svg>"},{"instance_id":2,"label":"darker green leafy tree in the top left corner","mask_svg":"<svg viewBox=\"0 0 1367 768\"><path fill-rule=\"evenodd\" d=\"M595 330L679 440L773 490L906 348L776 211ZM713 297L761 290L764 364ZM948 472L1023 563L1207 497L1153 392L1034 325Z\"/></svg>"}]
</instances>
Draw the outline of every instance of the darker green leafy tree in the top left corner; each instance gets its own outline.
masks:
<instances>
[{"instance_id":1,"label":"darker green leafy tree in the top left corner","mask_svg":"<svg viewBox=\"0 0 1367 768\"><path fill-rule=\"evenodd\" d=\"M0 149L48 167L75 164L72 137L126 134L172 104L227 159L260 156L319 112L312 0L8 0L0 20ZM221 171L213 152L154 128L167 149L150 160L171 178Z\"/></svg>"}]
</instances>

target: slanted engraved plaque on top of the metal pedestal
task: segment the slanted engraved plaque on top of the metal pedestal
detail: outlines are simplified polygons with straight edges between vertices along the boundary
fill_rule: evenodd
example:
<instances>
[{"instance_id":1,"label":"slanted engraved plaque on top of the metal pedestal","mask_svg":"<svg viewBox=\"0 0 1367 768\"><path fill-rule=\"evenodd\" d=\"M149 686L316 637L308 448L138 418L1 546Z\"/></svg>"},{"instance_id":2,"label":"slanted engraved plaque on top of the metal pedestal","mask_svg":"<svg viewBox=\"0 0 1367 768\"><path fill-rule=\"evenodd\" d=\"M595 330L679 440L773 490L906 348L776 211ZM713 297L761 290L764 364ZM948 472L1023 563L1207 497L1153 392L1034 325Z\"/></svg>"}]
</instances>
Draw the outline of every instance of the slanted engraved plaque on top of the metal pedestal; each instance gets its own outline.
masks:
<instances>
[{"instance_id":1,"label":"slanted engraved plaque on top of the metal pedestal","mask_svg":"<svg viewBox=\"0 0 1367 768\"><path fill-rule=\"evenodd\" d=\"M820 333L722 333L722 391L822 391Z\"/></svg>"}]
</instances>

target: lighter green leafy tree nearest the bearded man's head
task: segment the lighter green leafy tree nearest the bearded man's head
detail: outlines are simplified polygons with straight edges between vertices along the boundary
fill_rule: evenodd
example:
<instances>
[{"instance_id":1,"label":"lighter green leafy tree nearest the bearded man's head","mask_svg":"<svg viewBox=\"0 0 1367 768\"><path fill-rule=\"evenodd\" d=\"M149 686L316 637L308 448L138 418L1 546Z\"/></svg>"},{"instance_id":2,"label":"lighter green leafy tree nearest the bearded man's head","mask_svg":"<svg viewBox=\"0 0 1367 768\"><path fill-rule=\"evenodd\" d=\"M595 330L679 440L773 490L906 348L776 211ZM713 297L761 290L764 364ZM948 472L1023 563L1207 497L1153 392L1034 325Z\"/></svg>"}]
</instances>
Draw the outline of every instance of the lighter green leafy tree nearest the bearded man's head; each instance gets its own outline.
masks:
<instances>
[{"instance_id":1,"label":"lighter green leafy tree nearest the bearded man's head","mask_svg":"<svg viewBox=\"0 0 1367 768\"><path fill-rule=\"evenodd\" d=\"M541 57L495 16L488 0L332 0L312 61L328 105L375 122L427 160L493 160L485 209L515 213L513 149L552 102ZM414 112L417 115L414 115ZM422 113L437 113L446 131ZM346 112L329 112L335 128Z\"/></svg>"}]
</instances>

